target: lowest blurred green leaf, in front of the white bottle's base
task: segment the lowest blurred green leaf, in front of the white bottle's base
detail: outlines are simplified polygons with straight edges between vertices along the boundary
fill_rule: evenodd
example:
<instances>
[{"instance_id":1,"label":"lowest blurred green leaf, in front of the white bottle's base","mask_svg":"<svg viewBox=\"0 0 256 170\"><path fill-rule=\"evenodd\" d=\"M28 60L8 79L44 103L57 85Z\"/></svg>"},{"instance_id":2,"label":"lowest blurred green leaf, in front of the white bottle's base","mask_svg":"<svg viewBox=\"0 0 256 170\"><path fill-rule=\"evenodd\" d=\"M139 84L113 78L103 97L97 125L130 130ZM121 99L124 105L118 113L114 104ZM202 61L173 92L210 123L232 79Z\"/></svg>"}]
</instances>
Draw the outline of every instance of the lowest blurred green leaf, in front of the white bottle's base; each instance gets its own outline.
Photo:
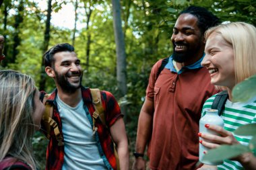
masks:
<instances>
[{"instance_id":1,"label":"lowest blurred green leaf, in front of the white bottle's base","mask_svg":"<svg viewBox=\"0 0 256 170\"><path fill-rule=\"evenodd\" d=\"M249 147L242 144L222 145L208 151L207 154L204 155L203 160L219 162L248 152L250 152Z\"/></svg>"}]
</instances>

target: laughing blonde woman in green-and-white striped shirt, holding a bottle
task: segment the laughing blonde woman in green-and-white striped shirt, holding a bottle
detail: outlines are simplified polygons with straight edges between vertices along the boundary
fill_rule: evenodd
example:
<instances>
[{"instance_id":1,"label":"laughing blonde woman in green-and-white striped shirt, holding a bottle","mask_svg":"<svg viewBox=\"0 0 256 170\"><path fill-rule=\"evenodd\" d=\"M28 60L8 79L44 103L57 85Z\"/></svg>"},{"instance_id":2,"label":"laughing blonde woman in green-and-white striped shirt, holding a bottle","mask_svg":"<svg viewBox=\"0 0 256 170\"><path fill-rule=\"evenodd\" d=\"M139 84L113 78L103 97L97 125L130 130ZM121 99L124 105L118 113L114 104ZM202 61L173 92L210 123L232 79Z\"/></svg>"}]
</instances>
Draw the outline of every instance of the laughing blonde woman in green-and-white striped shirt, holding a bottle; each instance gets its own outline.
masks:
<instances>
[{"instance_id":1,"label":"laughing blonde woman in green-and-white striped shirt, holding a bottle","mask_svg":"<svg viewBox=\"0 0 256 170\"><path fill-rule=\"evenodd\" d=\"M227 89L228 100L221 116L224 128L205 125L220 136L199 132L198 135L203 139L199 142L208 148L216 148L221 144L247 145L250 137L236 136L232 132L243 124L256 123L256 97L247 103L235 103L232 101L231 91L234 85L256 74L256 28L243 22L223 24L207 30L205 39L205 57L201 65L209 71L212 84ZM211 107L215 97L216 95L205 101L202 116ZM256 169L256 158L252 153L245 153L225 160L218 167L203 167L201 169Z\"/></svg>"}]
</instances>

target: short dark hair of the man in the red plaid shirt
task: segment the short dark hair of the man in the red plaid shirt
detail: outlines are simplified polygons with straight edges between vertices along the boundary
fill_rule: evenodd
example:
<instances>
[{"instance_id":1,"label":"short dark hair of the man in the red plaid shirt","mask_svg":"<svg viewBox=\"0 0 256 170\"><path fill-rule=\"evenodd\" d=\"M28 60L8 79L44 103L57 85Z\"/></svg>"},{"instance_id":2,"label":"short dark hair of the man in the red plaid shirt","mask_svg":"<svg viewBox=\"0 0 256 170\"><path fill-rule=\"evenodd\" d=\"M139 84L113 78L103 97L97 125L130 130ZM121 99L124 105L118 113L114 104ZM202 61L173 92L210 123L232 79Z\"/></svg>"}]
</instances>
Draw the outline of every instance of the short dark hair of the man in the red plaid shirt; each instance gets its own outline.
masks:
<instances>
[{"instance_id":1,"label":"short dark hair of the man in the red plaid shirt","mask_svg":"<svg viewBox=\"0 0 256 170\"><path fill-rule=\"evenodd\" d=\"M54 54L56 54L57 52L63 52L63 51L74 52L75 48L68 43L57 44L53 46L48 51L46 51L43 55L44 67L52 67L55 62L55 58L53 58Z\"/></svg>"}]
</instances>

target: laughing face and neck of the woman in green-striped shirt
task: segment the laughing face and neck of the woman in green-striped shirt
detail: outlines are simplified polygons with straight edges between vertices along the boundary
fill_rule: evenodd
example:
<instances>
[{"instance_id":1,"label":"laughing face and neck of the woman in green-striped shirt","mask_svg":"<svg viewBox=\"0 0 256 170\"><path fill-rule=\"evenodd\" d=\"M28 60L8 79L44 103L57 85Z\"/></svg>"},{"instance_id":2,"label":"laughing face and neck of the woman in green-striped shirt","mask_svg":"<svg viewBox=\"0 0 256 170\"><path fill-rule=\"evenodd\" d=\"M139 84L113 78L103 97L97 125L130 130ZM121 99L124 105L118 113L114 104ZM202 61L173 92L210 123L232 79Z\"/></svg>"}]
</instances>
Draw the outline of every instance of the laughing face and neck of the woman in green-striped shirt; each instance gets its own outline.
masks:
<instances>
[{"instance_id":1,"label":"laughing face and neck of the woman in green-striped shirt","mask_svg":"<svg viewBox=\"0 0 256 170\"><path fill-rule=\"evenodd\" d=\"M201 62L211 76L211 83L232 89L235 85L234 52L220 34L214 32L205 44L205 57Z\"/></svg>"}]
</instances>

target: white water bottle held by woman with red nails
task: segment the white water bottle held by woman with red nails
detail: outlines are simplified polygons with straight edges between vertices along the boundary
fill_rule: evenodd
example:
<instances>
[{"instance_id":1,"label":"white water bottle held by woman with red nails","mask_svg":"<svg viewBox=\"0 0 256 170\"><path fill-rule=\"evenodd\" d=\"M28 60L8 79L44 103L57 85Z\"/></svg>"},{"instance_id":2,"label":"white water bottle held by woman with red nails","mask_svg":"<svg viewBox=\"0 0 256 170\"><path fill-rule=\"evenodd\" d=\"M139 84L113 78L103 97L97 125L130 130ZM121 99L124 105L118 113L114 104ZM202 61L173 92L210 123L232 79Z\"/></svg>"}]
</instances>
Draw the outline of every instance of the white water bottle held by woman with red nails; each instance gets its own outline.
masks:
<instances>
[{"instance_id":1,"label":"white water bottle held by woman with red nails","mask_svg":"<svg viewBox=\"0 0 256 170\"><path fill-rule=\"evenodd\" d=\"M218 116L218 110L206 110L206 114L199 120L199 132L204 133L204 134L216 134L220 135L212 130L209 130L208 128L205 128L205 124L214 124L221 126L222 128L224 127L224 121L220 116ZM203 140L201 137L199 137L199 140ZM207 141L207 140L205 140ZM206 148L203 146L201 143L199 143L199 161L201 163L207 164L207 165L220 165L222 162L213 162L213 161L202 161L203 155L205 155L203 152L208 151L209 148Z\"/></svg>"}]
</instances>

